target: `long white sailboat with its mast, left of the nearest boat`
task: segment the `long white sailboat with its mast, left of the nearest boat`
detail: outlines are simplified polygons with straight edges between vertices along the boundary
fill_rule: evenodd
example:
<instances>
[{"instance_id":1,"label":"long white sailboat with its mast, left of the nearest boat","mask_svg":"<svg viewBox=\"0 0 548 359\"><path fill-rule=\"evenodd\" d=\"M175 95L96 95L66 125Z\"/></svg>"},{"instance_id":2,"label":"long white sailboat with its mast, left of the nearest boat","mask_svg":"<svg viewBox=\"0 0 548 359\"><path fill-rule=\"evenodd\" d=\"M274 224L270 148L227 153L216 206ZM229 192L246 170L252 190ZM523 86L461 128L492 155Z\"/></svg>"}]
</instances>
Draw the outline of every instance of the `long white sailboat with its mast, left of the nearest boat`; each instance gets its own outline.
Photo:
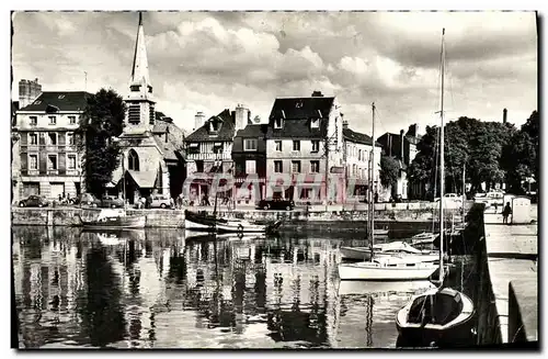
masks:
<instances>
[{"instance_id":1,"label":"long white sailboat with its mast, left of the nearest boat","mask_svg":"<svg viewBox=\"0 0 548 359\"><path fill-rule=\"evenodd\" d=\"M375 138L375 103L373 109L373 138ZM375 139L374 139L375 142ZM372 150L372 166L369 166L369 195L373 198L375 183L375 143ZM437 269L436 261L422 261L422 256L377 256L375 253L375 205L369 201L369 260L355 263L340 263L339 278L341 280L421 280L427 279Z\"/></svg>"}]
</instances>

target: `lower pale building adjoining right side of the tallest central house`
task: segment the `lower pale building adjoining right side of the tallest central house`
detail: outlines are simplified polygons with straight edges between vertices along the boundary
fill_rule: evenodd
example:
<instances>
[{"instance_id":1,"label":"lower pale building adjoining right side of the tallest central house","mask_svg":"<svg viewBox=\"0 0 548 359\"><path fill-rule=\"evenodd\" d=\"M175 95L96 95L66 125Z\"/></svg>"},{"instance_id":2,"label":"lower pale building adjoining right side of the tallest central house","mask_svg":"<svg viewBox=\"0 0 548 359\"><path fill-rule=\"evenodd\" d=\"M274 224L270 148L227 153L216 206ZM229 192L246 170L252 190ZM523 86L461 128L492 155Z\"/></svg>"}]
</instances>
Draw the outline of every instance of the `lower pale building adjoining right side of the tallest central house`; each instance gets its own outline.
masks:
<instances>
[{"instance_id":1,"label":"lower pale building adjoining right side of the tallest central house","mask_svg":"<svg viewBox=\"0 0 548 359\"><path fill-rule=\"evenodd\" d=\"M373 139L366 134L351 130L347 121L343 121L343 139L347 194L357 195L359 200L365 200L369 188ZM374 171L378 189L380 189L381 152L380 144L376 144Z\"/></svg>"}]
</instances>

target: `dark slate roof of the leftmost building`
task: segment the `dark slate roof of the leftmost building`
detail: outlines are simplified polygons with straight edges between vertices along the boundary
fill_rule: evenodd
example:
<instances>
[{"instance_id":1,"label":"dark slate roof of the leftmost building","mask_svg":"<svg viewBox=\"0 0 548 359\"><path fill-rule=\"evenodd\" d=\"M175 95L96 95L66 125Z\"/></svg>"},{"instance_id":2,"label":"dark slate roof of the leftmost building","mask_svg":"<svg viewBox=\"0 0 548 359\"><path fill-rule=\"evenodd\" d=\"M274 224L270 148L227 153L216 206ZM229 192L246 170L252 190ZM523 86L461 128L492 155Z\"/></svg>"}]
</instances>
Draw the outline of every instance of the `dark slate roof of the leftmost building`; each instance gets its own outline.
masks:
<instances>
[{"instance_id":1,"label":"dark slate roof of the leftmost building","mask_svg":"<svg viewBox=\"0 0 548 359\"><path fill-rule=\"evenodd\" d=\"M46 111L55 106L59 111L83 111L87 98L92 96L84 91L47 91L34 100L33 103L20 109L21 111Z\"/></svg>"}]
</instances>

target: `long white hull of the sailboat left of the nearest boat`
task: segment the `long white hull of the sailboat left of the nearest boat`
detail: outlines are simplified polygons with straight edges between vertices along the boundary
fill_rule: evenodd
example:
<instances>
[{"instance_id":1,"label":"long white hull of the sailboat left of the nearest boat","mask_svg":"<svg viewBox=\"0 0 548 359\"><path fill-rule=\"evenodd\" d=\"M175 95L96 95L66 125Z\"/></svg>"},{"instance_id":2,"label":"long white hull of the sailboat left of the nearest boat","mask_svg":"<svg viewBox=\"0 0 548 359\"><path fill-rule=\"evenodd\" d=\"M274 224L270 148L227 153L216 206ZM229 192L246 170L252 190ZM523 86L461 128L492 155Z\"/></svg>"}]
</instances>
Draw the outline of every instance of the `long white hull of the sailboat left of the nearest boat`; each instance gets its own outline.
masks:
<instances>
[{"instance_id":1,"label":"long white hull of the sailboat left of the nearest boat","mask_svg":"<svg viewBox=\"0 0 548 359\"><path fill-rule=\"evenodd\" d=\"M339 265L341 280L426 280L437 269L433 262L419 262L412 267L357 262Z\"/></svg>"}]
</instances>

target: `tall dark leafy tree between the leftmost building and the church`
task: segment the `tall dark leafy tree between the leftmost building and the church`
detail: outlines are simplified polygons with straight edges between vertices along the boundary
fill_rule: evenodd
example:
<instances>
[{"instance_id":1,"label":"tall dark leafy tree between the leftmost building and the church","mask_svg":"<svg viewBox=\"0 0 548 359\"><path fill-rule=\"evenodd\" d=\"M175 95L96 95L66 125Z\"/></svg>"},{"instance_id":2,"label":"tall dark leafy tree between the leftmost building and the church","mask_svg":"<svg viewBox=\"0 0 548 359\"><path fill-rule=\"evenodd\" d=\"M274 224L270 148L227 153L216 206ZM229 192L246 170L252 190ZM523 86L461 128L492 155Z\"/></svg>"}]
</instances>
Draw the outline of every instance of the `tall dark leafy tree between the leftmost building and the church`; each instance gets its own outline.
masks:
<instances>
[{"instance_id":1,"label":"tall dark leafy tree between the leftmost building and the church","mask_svg":"<svg viewBox=\"0 0 548 359\"><path fill-rule=\"evenodd\" d=\"M77 132L78 147L83 153L83 175L89 193L101 197L119 165L119 147L112 137L122 134L126 105L112 89L101 89L88 97Z\"/></svg>"}]
</instances>

